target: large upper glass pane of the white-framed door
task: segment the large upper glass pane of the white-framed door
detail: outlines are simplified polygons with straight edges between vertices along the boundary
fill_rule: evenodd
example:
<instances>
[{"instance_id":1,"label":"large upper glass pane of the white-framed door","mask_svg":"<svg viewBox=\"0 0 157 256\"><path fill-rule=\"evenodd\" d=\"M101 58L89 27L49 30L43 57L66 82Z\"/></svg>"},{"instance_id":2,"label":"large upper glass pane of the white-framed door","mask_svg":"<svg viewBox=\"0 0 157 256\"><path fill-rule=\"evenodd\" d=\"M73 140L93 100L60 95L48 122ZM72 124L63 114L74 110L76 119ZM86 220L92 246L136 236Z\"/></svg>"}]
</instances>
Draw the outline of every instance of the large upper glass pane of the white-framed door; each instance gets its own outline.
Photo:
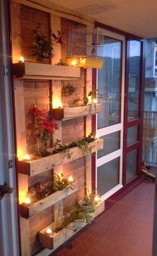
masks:
<instances>
[{"instance_id":1,"label":"large upper glass pane of the white-framed door","mask_svg":"<svg viewBox=\"0 0 157 256\"><path fill-rule=\"evenodd\" d=\"M110 37L105 37L104 41L98 92L104 95L106 102L102 102L102 111L98 114L98 129L120 122L121 42Z\"/></svg>"}]
</instances>

